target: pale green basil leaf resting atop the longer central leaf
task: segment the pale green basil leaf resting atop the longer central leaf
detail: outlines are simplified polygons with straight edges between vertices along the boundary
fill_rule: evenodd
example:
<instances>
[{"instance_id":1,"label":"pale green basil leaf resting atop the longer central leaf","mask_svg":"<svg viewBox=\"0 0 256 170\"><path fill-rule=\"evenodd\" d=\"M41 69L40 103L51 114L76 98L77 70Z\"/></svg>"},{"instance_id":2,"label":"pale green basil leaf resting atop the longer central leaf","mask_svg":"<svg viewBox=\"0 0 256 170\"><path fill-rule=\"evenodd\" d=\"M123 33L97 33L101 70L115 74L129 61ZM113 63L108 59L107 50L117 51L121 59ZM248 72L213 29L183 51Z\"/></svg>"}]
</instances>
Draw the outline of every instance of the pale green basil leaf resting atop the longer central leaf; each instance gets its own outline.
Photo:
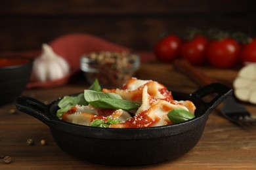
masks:
<instances>
[{"instance_id":1,"label":"pale green basil leaf resting atop the longer central leaf","mask_svg":"<svg viewBox=\"0 0 256 170\"><path fill-rule=\"evenodd\" d=\"M98 99L121 99L121 96L116 93L95 92L93 90L85 90L86 101L96 101Z\"/></svg>"}]
</instances>

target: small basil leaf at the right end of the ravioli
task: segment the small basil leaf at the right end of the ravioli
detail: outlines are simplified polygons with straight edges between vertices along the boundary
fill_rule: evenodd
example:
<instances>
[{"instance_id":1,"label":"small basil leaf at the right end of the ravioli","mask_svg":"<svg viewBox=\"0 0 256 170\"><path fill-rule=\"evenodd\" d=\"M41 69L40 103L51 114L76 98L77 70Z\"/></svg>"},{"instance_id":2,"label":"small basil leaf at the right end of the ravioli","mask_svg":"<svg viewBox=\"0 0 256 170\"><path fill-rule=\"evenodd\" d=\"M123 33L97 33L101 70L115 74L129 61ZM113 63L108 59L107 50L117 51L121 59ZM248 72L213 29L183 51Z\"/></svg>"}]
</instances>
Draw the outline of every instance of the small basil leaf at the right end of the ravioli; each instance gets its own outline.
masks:
<instances>
[{"instance_id":1,"label":"small basil leaf at the right end of the ravioli","mask_svg":"<svg viewBox=\"0 0 256 170\"><path fill-rule=\"evenodd\" d=\"M167 116L174 124L179 124L195 117L194 114L191 114L187 110L181 108L176 108L169 111Z\"/></svg>"}]
</instances>

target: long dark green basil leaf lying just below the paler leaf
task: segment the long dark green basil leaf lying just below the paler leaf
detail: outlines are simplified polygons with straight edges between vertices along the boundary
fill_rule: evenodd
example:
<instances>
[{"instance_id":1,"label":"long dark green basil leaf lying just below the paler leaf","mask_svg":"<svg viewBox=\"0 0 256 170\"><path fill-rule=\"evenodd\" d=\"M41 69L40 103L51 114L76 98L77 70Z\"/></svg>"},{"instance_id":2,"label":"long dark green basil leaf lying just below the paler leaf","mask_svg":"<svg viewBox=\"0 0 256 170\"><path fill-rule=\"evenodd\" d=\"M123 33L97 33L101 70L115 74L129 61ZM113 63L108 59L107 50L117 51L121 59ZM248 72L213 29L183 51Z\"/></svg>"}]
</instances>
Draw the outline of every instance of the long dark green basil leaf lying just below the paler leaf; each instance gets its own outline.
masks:
<instances>
[{"instance_id":1,"label":"long dark green basil leaf lying just below the paler leaf","mask_svg":"<svg viewBox=\"0 0 256 170\"><path fill-rule=\"evenodd\" d=\"M90 105L98 109L123 109L123 110L133 110L139 109L140 104L133 101L123 100L123 99L98 99L96 101L88 101Z\"/></svg>"}]
</instances>

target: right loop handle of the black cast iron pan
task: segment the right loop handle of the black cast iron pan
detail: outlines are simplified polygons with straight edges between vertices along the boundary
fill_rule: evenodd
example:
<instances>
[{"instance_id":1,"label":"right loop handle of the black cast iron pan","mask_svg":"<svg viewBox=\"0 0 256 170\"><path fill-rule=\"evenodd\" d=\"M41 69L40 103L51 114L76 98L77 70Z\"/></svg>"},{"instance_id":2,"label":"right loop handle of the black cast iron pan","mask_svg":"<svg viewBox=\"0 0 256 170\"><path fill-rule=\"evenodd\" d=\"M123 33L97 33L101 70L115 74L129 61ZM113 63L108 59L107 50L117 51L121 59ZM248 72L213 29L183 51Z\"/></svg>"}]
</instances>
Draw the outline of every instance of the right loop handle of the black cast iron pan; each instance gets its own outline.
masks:
<instances>
[{"instance_id":1,"label":"right loop handle of the black cast iron pan","mask_svg":"<svg viewBox=\"0 0 256 170\"><path fill-rule=\"evenodd\" d=\"M221 83L211 83L206 86L203 86L196 92L192 93L192 97L196 97L197 99L200 99L205 105L207 105L209 108L213 109L217 107L226 97L232 95L233 90L232 88L225 86ZM203 101L203 98L207 95L215 95L211 101L206 102Z\"/></svg>"}]
</instances>

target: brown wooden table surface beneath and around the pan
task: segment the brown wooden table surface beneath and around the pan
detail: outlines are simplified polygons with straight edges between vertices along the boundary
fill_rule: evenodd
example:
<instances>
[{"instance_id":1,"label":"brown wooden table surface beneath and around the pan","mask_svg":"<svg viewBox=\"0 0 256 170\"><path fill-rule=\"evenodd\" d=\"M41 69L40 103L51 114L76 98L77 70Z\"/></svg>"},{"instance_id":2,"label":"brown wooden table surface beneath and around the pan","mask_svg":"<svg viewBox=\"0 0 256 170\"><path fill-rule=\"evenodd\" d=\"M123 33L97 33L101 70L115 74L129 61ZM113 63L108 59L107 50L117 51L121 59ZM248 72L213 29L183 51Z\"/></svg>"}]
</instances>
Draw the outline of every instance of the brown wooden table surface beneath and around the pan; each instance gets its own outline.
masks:
<instances>
[{"instance_id":1,"label":"brown wooden table surface beneath and around the pan","mask_svg":"<svg viewBox=\"0 0 256 170\"><path fill-rule=\"evenodd\" d=\"M234 69L198 69L230 86L238 73ZM171 64L143 63L136 76L156 80L177 92L192 93L198 88L187 76L175 71ZM29 89L22 95L49 103L57 97L82 92L87 87L84 78L77 75L64 86ZM0 153L11 156L12 162L5 164L0 160L0 169L256 169L256 125L240 127L228 122L219 114L221 107L222 104L209 115L199 143L181 158L154 165L111 167L69 156L54 143L48 126L22 112L10 114L9 111L15 109L14 104L1 106ZM245 107L256 115L255 105ZM27 139L33 139L33 146L26 143ZM41 145L41 139L47 144Z\"/></svg>"}]
</instances>

